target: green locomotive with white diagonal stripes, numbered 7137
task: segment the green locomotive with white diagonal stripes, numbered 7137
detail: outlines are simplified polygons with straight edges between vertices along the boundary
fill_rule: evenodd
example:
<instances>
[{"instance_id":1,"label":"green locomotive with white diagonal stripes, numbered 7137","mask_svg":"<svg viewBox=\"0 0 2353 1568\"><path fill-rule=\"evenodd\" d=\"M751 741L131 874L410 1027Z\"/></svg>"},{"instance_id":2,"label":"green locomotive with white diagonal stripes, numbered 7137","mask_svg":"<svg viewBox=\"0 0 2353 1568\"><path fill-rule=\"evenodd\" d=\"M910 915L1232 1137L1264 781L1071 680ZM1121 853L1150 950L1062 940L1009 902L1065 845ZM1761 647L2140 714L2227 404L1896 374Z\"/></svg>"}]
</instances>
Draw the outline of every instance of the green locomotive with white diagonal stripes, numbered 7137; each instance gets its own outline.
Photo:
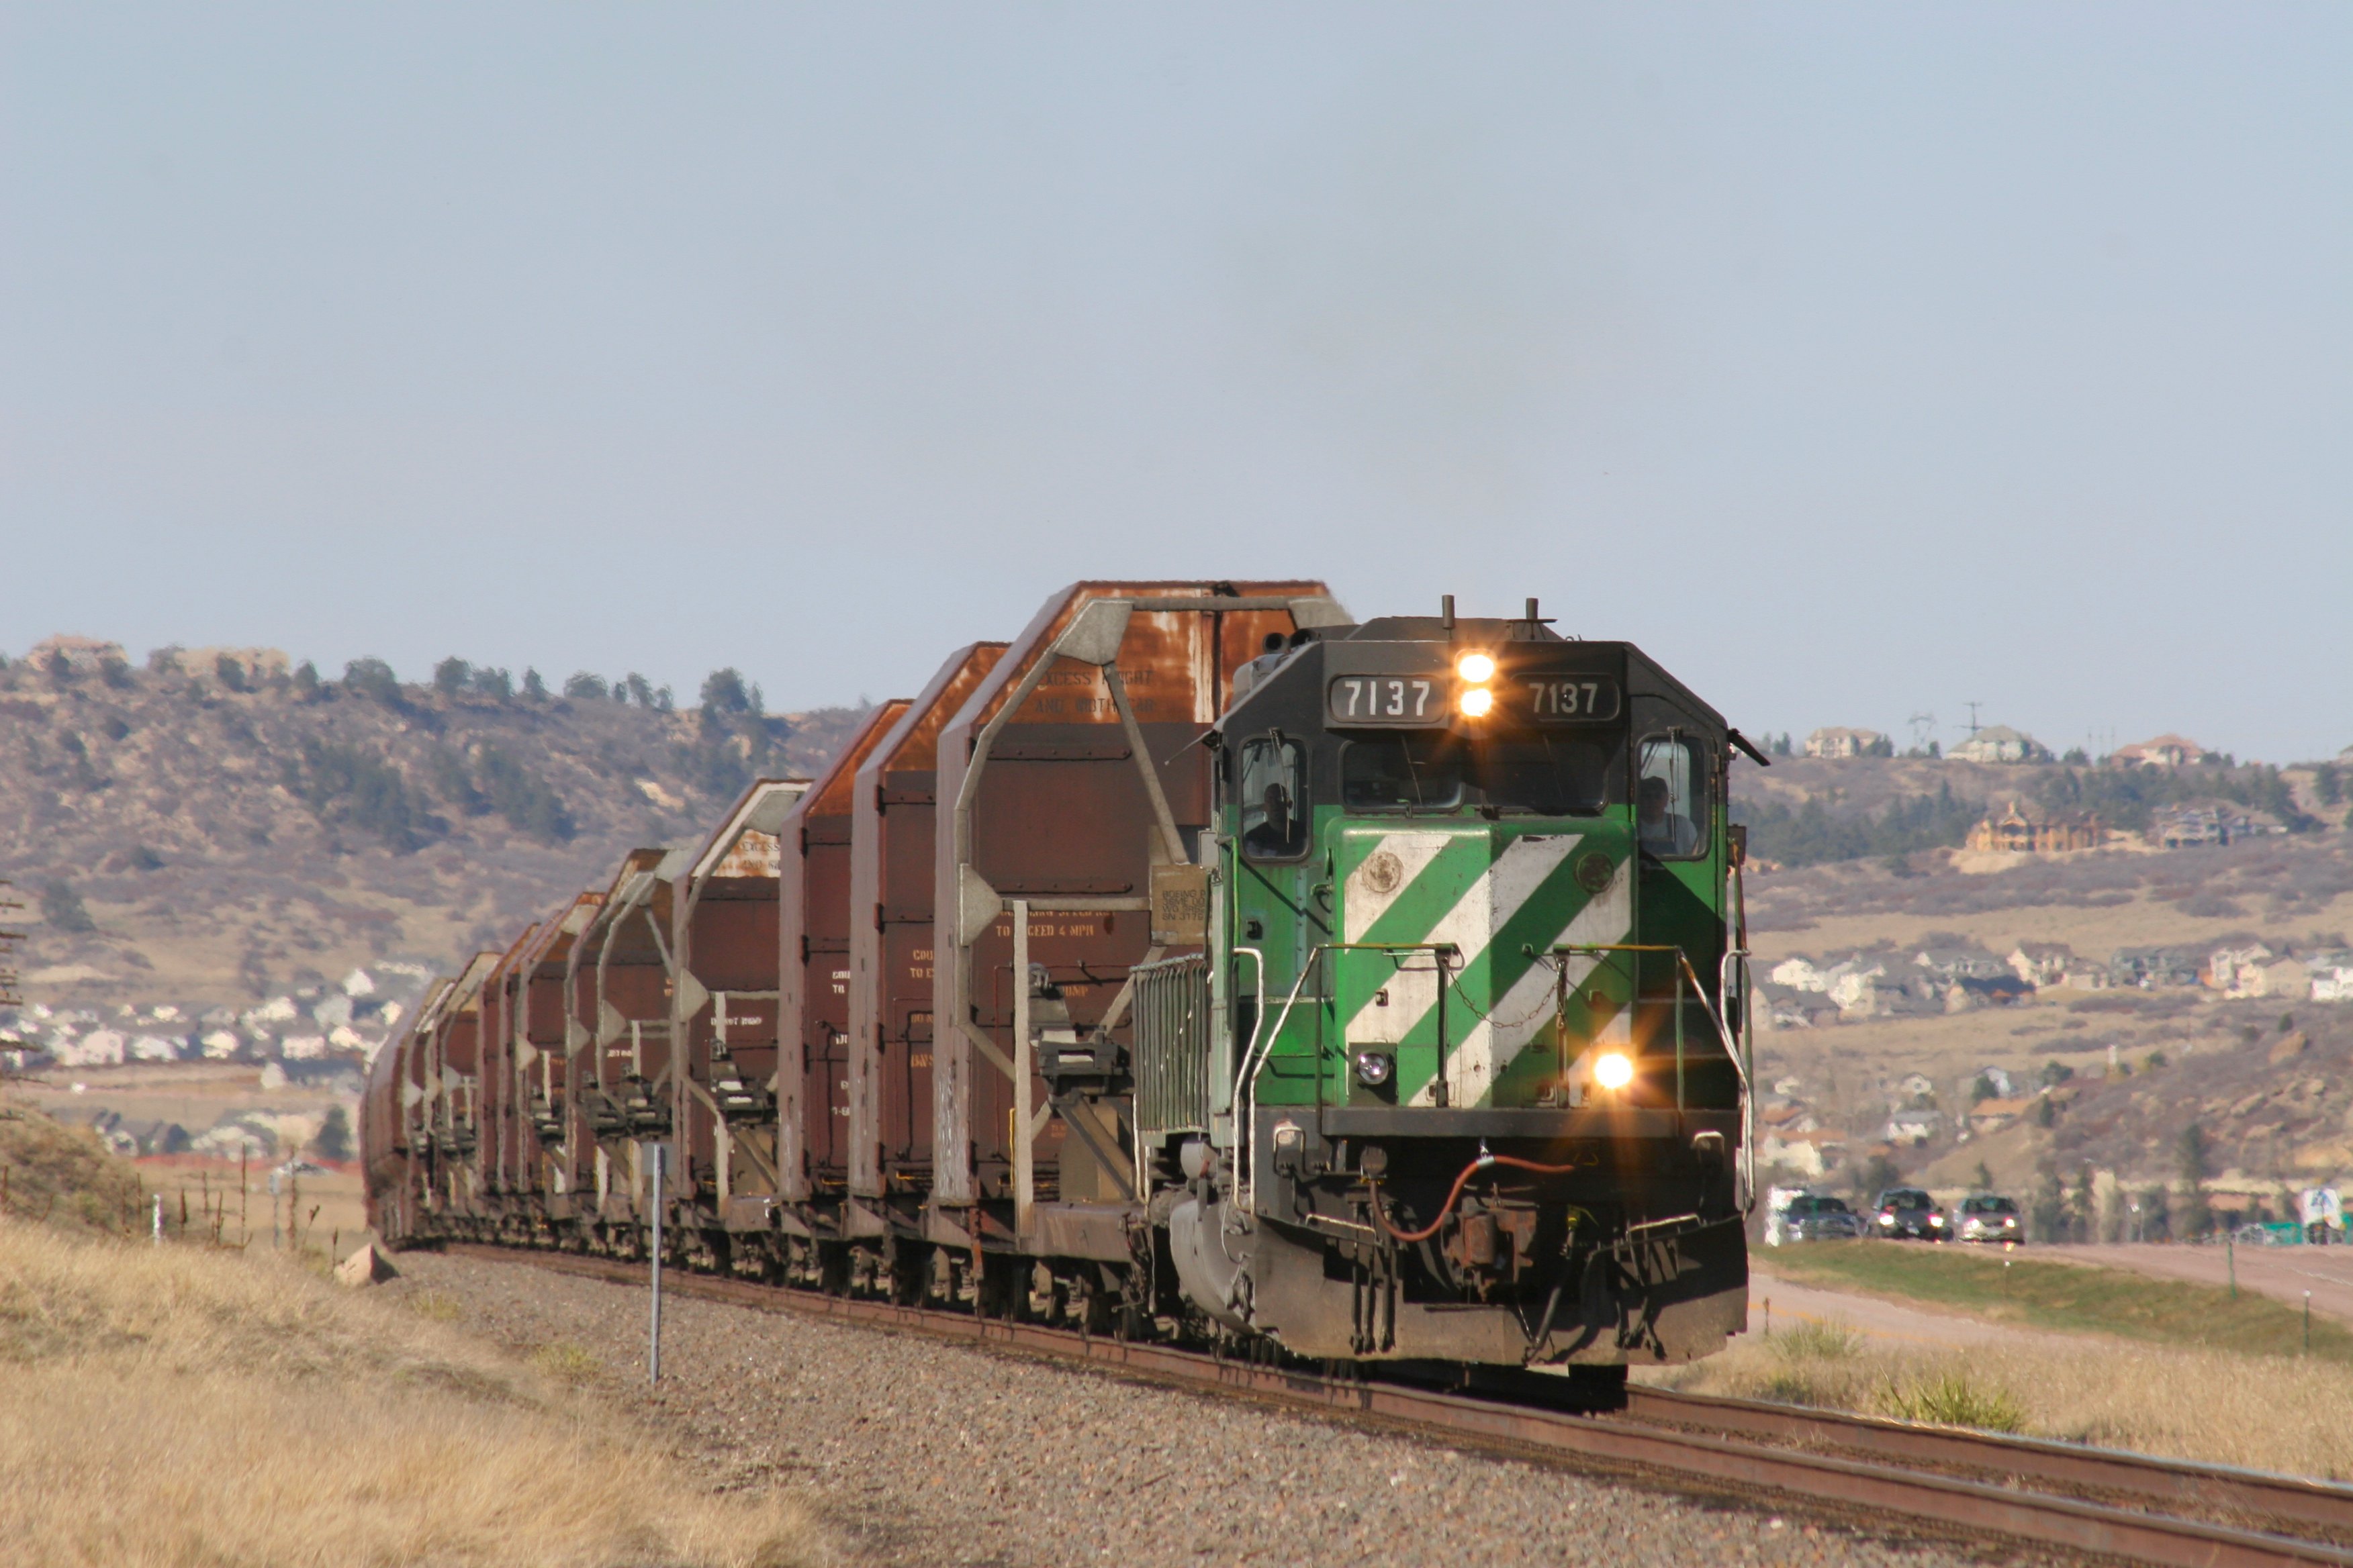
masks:
<instances>
[{"instance_id":1,"label":"green locomotive with white diagonal stripes, numbered 7137","mask_svg":"<svg viewBox=\"0 0 2353 1568\"><path fill-rule=\"evenodd\" d=\"M1139 973L1186 1312L1332 1359L1720 1349L1751 1206L1722 806L1753 748L1534 602L1301 635L1235 686L1205 950Z\"/></svg>"}]
</instances>

